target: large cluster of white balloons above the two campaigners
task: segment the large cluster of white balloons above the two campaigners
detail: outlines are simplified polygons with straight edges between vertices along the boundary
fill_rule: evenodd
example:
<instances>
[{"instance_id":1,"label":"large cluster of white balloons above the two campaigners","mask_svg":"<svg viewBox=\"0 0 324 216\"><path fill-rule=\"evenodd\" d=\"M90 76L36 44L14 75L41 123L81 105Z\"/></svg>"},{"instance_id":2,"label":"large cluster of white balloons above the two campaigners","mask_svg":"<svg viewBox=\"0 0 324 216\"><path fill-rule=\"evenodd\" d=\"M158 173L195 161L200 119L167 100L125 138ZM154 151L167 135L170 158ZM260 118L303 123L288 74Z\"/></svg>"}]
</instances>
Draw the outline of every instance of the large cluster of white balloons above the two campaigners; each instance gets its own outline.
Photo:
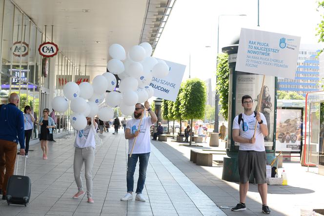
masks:
<instances>
[{"instance_id":1,"label":"large cluster of white balloons above the two campaigners","mask_svg":"<svg viewBox=\"0 0 324 216\"><path fill-rule=\"evenodd\" d=\"M86 127L86 116L98 115L102 121L109 121L114 117L112 108L118 106L124 115L132 114L137 103L143 103L153 96L154 90L149 86L153 76L163 78L169 73L169 66L151 54L152 46L145 42L133 46L126 59L125 49L120 44L112 44L109 47L112 59L107 63L109 72L96 76L92 85L88 82L79 86L75 82L65 84L65 97L55 97L52 108L58 112L65 112L70 100L70 108L73 111L70 122L75 130ZM114 74L121 79L119 91L114 91L117 85ZM106 90L110 92L106 93Z\"/></svg>"}]
</instances>

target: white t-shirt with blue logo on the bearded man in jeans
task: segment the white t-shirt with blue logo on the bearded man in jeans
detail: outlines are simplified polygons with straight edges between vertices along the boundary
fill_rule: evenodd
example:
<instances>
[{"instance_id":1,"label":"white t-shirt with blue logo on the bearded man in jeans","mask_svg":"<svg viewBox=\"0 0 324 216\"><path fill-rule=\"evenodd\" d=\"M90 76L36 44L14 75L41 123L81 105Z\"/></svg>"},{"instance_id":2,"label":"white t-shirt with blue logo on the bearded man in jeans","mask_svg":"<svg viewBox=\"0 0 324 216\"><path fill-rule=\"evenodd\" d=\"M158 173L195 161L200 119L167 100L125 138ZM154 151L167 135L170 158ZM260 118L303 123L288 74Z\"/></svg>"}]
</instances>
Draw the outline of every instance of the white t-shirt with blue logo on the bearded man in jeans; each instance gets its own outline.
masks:
<instances>
[{"instance_id":1,"label":"white t-shirt with blue logo on the bearded man in jeans","mask_svg":"<svg viewBox=\"0 0 324 216\"><path fill-rule=\"evenodd\" d=\"M126 129L130 129L130 133L134 134L138 130L140 119L131 119L127 121ZM133 150L133 154L142 154L151 152L151 136L150 128L152 126L151 117L144 117L140 127L140 134L138 135ZM134 138L128 140L128 154L133 148Z\"/></svg>"}]
</instances>

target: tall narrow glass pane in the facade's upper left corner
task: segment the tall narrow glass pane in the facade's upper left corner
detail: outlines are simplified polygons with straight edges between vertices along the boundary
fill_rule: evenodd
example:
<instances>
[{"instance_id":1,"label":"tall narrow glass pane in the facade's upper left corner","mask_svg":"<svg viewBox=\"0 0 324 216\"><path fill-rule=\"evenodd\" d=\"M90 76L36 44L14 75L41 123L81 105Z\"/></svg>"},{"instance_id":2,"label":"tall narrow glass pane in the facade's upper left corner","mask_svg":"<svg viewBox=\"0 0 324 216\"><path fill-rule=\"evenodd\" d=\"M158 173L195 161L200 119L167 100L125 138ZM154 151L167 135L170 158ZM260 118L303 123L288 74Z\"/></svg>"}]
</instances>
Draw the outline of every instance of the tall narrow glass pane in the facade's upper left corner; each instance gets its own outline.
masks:
<instances>
[{"instance_id":1,"label":"tall narrow glass pane in the facade's upper left corner","mask_svg":"<svg viewBox=\"0 0 324 216\"><path fill-rule=\"evenodd\" d=\"M5 5L4 5L1 71L8 74L10 73L10 63L11 63L11 53L12 53L11 46L12 46L12 33L13 33L13 25L12 25L13 19L14 19L14 5L7 0L5 1Z\"/></svg>"}]
</instances>

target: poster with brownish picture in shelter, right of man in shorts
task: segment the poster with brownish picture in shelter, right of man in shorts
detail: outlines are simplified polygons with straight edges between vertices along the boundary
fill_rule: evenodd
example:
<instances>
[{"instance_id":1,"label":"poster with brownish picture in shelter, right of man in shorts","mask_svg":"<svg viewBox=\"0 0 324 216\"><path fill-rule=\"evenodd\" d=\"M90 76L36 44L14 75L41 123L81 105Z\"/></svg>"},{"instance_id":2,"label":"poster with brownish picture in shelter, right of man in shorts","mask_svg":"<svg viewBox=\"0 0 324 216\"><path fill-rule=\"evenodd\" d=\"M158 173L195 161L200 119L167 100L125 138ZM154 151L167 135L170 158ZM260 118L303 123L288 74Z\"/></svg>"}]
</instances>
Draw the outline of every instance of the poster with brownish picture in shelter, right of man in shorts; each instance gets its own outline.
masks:
<instances>
[{"instance_id":1,"label":"poster with brownish picture in shelter, right of man in shorts","mask_svg":"<svg viewBox=\"0 0 324 216\"><path fill-rule=\"evenodd\" d=\"M276 151L301 150L303 108L277 108Z\"/></svg>"}]
</instances>

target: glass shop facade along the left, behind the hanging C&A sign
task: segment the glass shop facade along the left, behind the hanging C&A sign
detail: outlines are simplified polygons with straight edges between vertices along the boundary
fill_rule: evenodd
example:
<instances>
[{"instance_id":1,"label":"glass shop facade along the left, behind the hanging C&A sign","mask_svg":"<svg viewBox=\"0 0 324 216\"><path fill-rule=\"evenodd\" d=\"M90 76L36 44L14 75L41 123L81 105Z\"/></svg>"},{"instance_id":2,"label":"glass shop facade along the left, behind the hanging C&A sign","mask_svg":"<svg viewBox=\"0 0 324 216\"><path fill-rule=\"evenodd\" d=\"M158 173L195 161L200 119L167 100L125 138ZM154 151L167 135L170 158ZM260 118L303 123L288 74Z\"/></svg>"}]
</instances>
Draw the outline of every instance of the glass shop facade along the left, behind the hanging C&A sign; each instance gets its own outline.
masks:
<instances>
[{"instance_id":1,"label":"glass shop facade along the left, behind the hanging C&A sign","mask_svg":"<svg viewBox=\"0 0 324 216\"><path fill-rule=\"evenodd\" d=\"M50 41L49 35L45 37L41 31L44 26L36 26L10 0L0 0L0 12L0 104L8 103L9 95L17 92L20 95L20 110L29 105L39 121L44 108L51 110L51 99L63 95L62 84L74 81L75 75L85 73L59 52L49 58L49 70L45 76L42 73L43 57L38 52L41 43ZM55 133L72 130L70 112L56 113ZM34 129L32 138L36 139L38 126Z\"/></svg>"}]
</instances>

